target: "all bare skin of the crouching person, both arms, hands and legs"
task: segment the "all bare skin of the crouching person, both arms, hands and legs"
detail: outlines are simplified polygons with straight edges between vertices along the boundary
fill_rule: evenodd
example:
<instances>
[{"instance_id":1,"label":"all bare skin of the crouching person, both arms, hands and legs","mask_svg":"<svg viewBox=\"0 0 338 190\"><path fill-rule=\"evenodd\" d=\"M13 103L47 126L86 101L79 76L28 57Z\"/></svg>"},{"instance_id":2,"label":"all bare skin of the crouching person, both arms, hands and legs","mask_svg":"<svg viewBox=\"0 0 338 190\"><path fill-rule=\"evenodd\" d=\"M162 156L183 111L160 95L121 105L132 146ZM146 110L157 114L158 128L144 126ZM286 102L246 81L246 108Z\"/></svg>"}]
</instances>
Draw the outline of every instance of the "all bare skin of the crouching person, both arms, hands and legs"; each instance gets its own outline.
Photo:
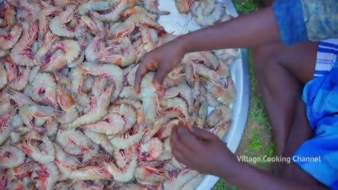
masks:
<instances>
[{"instance_id":1,"label":"all bare skin of the crouching person, both arms, hands and legs","mask_svg":"<svg viewBox=\"0 0 338 190\"><path fill-rule=\"evenodd\" d=\"M251 48L259 88L273 124L277 155L290 157L303 141L313 137L301 91L303 84L313 78L317 46L313 42L284 46L273 9L267 7L185 34L149 52L137 70L135 89L139 92L139 83L149 71L156 71L153 84L161 89L163 79L185 53ZM276 175L240 163L226 144L196 127L187 129L182 124L173 129L170 138L177 160L199 172L222 177L241 189L327 189L296 163L282 164Z\"/></svg>"}]
</instances>

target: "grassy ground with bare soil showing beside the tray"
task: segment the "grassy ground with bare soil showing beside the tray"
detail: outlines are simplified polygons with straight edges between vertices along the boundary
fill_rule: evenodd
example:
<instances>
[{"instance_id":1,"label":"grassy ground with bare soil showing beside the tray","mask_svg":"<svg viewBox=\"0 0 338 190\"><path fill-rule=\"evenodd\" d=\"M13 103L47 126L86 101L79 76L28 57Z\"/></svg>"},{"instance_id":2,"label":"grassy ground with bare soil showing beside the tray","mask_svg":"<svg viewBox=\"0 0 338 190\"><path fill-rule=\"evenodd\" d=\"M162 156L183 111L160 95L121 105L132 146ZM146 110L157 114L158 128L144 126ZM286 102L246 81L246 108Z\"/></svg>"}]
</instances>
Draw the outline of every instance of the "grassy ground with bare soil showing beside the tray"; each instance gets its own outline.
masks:
<instances>
[{"instance_id":1,"label":"grassy ground with bare soil showing beside the tray","mask_svg":"<svg viewBox=\"0 0 338 190\"><path fill-rule=\"evenodd\" d=\"M256 11L261 4L258 0L232 0L237 8L239 15ZM249 117L246 123L246 128L242 137L242 141L239 144L236 155L261 157L275 156L275 148L271 142L270 122L265 113L265 109L262 103L261 95L258 92L258 82L256 75L253 72L252 61L250 58L250 107ZM251 163L256 167L264 170L270 170L272 165L270 163ZM223 189L239 189L236 186L230 186L227 182L220 179L213 187L213 190Z\"/></svg>"}]
</instances>

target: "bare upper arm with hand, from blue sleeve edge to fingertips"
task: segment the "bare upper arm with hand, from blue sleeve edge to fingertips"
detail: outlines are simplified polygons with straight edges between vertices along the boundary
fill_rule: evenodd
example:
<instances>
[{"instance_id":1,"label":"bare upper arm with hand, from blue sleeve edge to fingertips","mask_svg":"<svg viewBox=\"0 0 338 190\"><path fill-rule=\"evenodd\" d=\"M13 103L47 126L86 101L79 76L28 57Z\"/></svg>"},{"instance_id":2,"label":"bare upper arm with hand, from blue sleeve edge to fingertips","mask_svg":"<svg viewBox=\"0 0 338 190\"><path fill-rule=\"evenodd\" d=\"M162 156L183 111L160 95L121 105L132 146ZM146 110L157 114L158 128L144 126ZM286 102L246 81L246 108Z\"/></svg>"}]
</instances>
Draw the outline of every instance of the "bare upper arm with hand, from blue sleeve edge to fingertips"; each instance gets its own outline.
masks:
<instances>
[{"instance_id":1,"label":"bare upper arm with hand, from blue sleeve edge to fingertips","mask_svg":"<svg viewBox=\"0 0 338 190\"><path fill-rule=\"evenodd\" d=\"M135 89L139 92L141 79L149 70L157 70L154 85L160 88L163 79L180 63L185 53L273 44L280 42L278 31L273 8L268 7L184 34L142 58L135 76Z\"/></svg>"}]
</instances>

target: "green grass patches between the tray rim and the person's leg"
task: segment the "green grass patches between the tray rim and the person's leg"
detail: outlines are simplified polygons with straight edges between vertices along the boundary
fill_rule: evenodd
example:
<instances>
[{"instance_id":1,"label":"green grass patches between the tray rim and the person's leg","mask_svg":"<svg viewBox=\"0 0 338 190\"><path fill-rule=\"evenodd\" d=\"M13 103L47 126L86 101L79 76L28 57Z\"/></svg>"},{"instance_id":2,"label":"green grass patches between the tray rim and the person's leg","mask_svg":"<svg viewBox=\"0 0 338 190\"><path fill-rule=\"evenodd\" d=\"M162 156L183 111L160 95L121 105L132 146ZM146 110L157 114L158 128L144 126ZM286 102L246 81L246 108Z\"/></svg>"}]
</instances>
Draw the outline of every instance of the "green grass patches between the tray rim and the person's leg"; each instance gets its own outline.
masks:
<instances>
[{"instance_id":1,"label":"green grass patches between the tray rim and the person's leg","mask_svg":"<svg viewBox=\"0 0 338 190\"><path fill-rule=\"evenodd\" d=\"M260 6L260 2L258 0L232 0L234 6L237 9L239 15L243 15L246 13L250 13L252 11L256 11ZM250 53L249 53L250 56ZM250 57L250 107L249 107L249 118L256 122L258 125L263 125L263 129L266 130L265 134L270 134L270 122L268 120L268 115L265 112L265 108L263 106L263 100L261 94L258 91L258 80L253 71L253 63ZM275 147L270 142L270 139L266 139L266 137L262 136L260 132L253 132L251 135L251 140L247 144L246 150L244 153L248 156L255 156L263 158L263 156L273 157L275 156ZM271 163L256 163L256 167L260 168L271 168ZM225 190L225 189L239 189L236 186L230 186L223 179L220 179L217 184L213 187L214 190Z\"/></svg>"}]
</instances>

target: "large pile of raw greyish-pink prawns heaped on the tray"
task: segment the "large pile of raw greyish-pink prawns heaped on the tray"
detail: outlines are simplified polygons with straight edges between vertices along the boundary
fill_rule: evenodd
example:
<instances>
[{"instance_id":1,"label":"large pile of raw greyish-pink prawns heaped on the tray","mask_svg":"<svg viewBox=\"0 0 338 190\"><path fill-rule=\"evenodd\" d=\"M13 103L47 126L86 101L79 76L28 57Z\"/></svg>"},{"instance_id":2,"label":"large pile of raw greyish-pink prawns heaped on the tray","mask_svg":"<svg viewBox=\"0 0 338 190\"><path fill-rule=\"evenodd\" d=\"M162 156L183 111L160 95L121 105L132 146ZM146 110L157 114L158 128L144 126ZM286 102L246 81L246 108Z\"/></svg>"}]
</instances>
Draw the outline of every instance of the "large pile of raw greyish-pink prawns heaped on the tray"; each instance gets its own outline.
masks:
<instances>
[{"instance_id":1,"label":"large pile of raw greyish-pink prawns heaped on the tray","mask_svg":"<svg viewBox=\"0 0 338 190\"><path fill-rule=\"evenodd\" d=\"M180 121L227 133L237 51L189 53L163 90L149 72L137 94L139 61L177 37L156 22L169 14L157 1L6 3L0 189L194 189L201 182L172 156L168 137Z\"/></svg>"}]
</instances>

